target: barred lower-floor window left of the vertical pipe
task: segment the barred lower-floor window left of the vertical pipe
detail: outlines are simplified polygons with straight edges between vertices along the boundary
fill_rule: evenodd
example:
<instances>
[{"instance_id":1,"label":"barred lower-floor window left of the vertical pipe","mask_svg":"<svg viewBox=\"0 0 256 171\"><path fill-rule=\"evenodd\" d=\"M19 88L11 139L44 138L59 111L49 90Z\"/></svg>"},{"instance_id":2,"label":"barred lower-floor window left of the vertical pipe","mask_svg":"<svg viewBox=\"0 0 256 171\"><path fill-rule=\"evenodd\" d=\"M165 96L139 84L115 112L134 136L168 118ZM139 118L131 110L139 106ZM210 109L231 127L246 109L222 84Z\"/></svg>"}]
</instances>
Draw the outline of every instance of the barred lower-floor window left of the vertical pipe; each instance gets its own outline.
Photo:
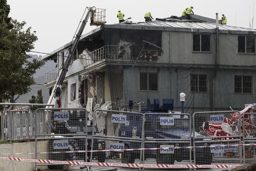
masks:
<instances>
[{"instance_id":1,"label":"barred lower-floor window left of the vertical pipe","mask_svg":"<svg viewBox=\"0 0 256 171\"><path fill-rule=\"evenodd\" d=\"M191 92L207 93L207 75L191 74L190 89Z\"/></svg>"}]
</instances>

